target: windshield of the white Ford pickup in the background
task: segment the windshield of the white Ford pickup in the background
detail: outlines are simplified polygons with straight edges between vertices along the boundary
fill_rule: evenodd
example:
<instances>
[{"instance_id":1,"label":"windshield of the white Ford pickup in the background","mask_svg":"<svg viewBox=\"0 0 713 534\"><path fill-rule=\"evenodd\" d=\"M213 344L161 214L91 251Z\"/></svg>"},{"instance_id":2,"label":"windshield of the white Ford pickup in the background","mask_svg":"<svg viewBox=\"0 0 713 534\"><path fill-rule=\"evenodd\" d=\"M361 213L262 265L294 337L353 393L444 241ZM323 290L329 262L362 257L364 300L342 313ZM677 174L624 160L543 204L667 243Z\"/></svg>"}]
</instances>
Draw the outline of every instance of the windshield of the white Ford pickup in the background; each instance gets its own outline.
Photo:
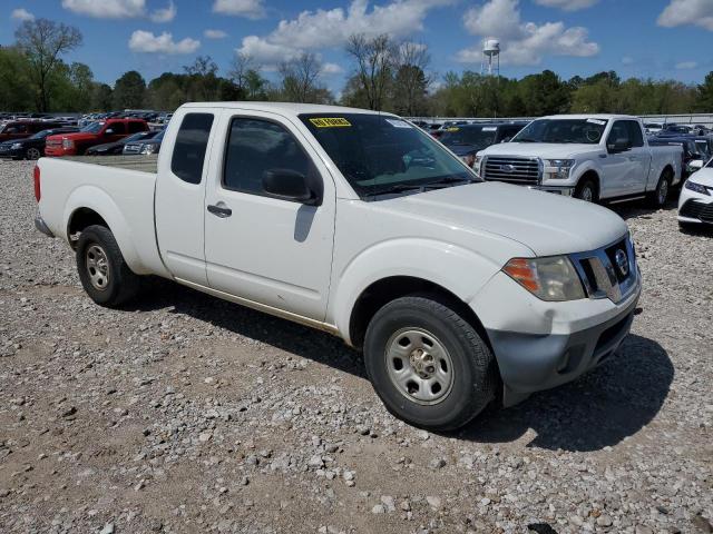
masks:
<instances>
[{"instance_id":1,"label":"windshield of the white Ford pickup in the background","mask_svg":"<svg viewBox=\"0 0 713 534\"><path fill-rule=\"evenodd\" d=\"M600 119L539 119L520 131L512 142L576 142L597 145L607 120Z\"/></svg>"}]
</instances>

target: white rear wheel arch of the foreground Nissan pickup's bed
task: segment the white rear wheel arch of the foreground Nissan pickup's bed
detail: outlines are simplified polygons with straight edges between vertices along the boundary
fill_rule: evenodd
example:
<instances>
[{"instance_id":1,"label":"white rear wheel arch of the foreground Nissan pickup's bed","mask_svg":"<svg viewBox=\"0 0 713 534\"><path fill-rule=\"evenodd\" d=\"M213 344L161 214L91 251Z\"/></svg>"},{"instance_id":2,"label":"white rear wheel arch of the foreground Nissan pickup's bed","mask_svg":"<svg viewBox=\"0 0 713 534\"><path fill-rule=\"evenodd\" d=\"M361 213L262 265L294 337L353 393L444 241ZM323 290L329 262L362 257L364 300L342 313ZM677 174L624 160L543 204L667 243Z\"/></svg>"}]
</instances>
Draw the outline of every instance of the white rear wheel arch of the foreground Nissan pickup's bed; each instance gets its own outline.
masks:
<instances>
[{"instance_id":1,"label":"white rear wheel arch of the foreground Nissan pickup's bed","mask_svg":"<svg viewBox=\"0 0 713 534\"><path fill-rule=\"evenodd\" d=\"M80 208L89 208L101 216L109 225L109 229L116 238L121 255L129 268L137 275L150 275L153 270L147 268L134 246L134 239L129 230L129 225L121 214L116 202L106 191L96 186L80 186L69 195L65 204L65 212L62 215L64 233L62 236L69 243L69 221L74 212Z\"/></svg>"}]
</instances>

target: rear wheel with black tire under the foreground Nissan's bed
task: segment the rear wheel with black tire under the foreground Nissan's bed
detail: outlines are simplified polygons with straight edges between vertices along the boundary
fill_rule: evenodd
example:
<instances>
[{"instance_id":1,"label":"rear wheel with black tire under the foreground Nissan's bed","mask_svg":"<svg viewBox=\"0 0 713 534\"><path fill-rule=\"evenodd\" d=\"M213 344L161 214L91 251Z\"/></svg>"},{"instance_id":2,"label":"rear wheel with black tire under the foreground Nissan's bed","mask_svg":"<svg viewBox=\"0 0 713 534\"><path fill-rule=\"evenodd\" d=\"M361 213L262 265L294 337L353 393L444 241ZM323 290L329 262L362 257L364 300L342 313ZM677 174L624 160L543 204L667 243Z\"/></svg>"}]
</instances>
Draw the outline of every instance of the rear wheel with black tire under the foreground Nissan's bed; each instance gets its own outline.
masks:
<instances>
[{"instance_id":1,"label":"rear wheel with black tire under the foreground Nissan's bed","mask_svg":"<svg viewBox=\"0 0 713 534\"><path fill-rule=\"evenodd\" d=\"M77 270L87 295L101 306L120 306L138 293L140 277L126 265L114 234L104 226L89 226L80 234Z\"/></svg>"}]
</instances>

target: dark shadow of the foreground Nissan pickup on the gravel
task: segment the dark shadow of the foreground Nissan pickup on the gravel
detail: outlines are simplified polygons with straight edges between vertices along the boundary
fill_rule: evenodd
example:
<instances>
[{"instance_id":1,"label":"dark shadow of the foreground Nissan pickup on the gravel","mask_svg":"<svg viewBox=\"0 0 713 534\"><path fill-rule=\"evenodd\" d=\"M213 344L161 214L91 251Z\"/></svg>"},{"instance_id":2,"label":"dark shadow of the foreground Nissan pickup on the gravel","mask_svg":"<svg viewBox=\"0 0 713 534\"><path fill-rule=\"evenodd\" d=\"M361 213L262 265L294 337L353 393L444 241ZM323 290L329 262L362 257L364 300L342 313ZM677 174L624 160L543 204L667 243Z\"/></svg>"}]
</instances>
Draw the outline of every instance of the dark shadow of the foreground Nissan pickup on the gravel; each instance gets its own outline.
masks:
<instances>
[{"instance_id":1,"label":"dark shadow of the foreground Nissan pickup on the gravel","mask_svg":"<svg viewBox=\"0 0 713 534\"><path fill-rule=\"evenodd\" d=\"M156 279L130 309L162 308L367 379L361 355L334 336L167 280ZM449 436L508 443L533 428L537 437L527 446L598 451L648 424L666 399L673 377L673 364L661 345L629 335L613 358L578 380L533 395L511 408L488 409Z\"/></svg>"}]
</instances>

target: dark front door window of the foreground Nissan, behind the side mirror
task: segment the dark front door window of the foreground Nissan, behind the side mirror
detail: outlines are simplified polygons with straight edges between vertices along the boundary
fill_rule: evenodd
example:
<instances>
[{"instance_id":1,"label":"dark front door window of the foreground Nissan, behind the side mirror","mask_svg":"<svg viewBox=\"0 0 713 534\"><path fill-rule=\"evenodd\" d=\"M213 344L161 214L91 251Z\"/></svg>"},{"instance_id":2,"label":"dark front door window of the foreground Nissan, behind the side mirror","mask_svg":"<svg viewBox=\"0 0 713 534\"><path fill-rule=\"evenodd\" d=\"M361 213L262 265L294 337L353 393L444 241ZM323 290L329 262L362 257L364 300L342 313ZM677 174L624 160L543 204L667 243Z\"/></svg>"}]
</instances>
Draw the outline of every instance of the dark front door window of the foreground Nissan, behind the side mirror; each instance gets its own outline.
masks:
<instances>
[{"instance_id":1,"label":"dark front door window of the foreground Nissan, behind the side mirror","mask_svg":"<svg viewBox=\"0 0 713 534\"><path fill-rule=\"evenodd\" d=\"M307 176L311 166L302 147L282 126L260 119L233 119L223 174L226 189L263 195L266 170L287 169Z\"/></svg>"}]
</instances>

